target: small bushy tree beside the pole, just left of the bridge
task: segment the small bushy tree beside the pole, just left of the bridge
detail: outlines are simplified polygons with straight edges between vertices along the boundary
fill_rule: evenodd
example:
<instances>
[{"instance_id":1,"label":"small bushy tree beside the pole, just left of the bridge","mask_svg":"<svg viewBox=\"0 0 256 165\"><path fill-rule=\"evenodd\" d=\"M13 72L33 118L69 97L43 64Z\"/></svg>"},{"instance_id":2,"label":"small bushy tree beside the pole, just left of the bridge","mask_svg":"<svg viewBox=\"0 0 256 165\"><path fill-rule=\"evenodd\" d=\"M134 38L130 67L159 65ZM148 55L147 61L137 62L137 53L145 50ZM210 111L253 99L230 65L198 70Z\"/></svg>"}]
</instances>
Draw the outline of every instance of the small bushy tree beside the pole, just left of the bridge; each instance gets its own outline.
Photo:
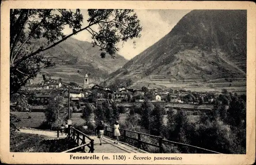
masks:
<instances>
[{"instance_id":1,"label":"small bushy tree beside the pole, just left of the bridge","mask_svg":"<svg viewBox=\"0 0 256 165\"><path fill-rule=\"evenodd\" d=\"M60 127L60 122L62 123L67 115L68 111L67 108L64 107L63 97L55 96L49 99L49 104L45 109L45 118L47 123L51 125L51 129L56 120L58 122L58 127Z\"/></svg>"}]
</instances>

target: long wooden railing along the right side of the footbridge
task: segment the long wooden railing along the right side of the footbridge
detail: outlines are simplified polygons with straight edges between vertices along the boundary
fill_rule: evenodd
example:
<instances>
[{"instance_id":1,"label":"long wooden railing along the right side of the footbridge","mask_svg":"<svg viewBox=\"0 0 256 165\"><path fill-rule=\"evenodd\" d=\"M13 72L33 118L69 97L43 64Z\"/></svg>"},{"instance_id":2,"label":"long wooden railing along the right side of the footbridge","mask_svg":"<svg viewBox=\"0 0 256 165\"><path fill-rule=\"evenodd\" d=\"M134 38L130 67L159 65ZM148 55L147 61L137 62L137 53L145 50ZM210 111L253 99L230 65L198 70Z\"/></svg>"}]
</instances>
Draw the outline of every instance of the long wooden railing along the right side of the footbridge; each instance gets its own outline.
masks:
<instances>
[{"instance_id":1,"label":"long wooden railing along the right side of the footbridge","mask_svg":"<svg viewBox=\"0 0 256 165\"><path fill-rule=\"evenodd\" d=\"M161 137L161 136L154 136L154 135L144 134L141 132L125 130L125 129L119 129L119 130L120 130L120 134L121 134L121 136L120 136L121 141L128 143L129 139L131 139L135 142L135 143L133 143L133 146L135 146L139 149L142 149L142 150L146 150L146 151L148 151L148 150L145 147L145 145L149 145L149 146L157 147L159 150L158 151L159 153L165 153L164 148L163 148L163 143L167 143L167 145L188 147L189 149L196 150L196 151L199 151L200 153L204 153L204 154L206 154L206 153L222 154L222 153L219 153L216 151L207 150L207 149L200 148L197 146L192 146L192 145L188 145L188 144L184 144L184 143L180 143L180 142L169 141L169 140L163 139L163 137ZM113 137L113 132L114 132L114 127L105 126L104 134L106 136ZM131 137L131 136L133 136L133 137ZM146 142L146 139L147 139L147 142ZM148 140L148 139L150 139L150 140ZM154 143L150 143L149 141L154 142Z\"/></svg>"}]
</instances>

